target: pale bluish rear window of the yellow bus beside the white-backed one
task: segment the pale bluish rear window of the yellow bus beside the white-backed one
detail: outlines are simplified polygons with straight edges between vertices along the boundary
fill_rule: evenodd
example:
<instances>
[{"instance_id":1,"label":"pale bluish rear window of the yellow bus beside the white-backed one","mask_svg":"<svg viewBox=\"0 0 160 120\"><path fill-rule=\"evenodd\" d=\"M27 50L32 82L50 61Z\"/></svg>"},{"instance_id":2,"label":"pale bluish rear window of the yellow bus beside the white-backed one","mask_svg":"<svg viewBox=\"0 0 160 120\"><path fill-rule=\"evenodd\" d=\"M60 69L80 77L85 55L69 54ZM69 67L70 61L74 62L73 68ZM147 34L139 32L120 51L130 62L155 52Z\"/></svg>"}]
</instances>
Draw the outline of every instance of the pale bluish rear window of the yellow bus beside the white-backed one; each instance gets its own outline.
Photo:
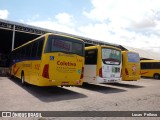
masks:
<instances>
[{"instance_id":1,"label":"pale bluish rear window of the yellow bus beside the white-backed one","mask_svg":"<svg viewBox=\"0 0 160 120\"><path fill-rule=\"evenodd\" d=\"M140 62L139 54L133 53L133 52L128 52L128 62Z\"/></svg>"}]
</instances>

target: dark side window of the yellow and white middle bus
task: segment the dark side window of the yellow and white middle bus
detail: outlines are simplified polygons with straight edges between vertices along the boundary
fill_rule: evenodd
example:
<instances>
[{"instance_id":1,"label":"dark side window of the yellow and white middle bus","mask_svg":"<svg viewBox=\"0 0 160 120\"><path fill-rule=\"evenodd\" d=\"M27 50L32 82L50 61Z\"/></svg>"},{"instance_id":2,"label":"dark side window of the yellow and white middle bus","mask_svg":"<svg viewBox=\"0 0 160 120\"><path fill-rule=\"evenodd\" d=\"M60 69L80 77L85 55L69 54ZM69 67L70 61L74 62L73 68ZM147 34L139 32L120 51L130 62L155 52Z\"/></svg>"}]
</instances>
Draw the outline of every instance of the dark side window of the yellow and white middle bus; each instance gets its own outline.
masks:
<instances>
[{"instance_id":1,"label":"dark side window of the yellow and white middle bus","mask_svg":"<svg viewBox=\"0 0 160 120\"><path fill-rule=\"evenodd\" d=\"M97 64L97 50L85 51L85 64L96 65Z\"/></svg>"}]
</instances>

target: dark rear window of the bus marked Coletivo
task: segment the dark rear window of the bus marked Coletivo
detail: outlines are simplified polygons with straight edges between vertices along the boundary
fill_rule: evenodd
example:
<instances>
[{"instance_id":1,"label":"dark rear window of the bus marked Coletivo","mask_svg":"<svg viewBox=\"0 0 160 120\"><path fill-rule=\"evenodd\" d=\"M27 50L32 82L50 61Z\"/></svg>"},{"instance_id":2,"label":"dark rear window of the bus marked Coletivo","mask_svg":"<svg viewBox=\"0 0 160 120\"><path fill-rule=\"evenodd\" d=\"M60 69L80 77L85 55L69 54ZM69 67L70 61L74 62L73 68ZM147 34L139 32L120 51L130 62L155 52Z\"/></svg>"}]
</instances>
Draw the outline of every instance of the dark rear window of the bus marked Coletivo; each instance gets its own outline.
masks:
<instances>
[{"instance_id":1,"label":"dark rear window of the bus marked Coletivo","mask_svg":"<svg viewBox=\"0 0 160 120\"><path fill-rule=\"evenodd\" d=\"M45 52L64 52L84 56L83 42L63 36L49 36Z\"/></svg>"}]
</instances>

